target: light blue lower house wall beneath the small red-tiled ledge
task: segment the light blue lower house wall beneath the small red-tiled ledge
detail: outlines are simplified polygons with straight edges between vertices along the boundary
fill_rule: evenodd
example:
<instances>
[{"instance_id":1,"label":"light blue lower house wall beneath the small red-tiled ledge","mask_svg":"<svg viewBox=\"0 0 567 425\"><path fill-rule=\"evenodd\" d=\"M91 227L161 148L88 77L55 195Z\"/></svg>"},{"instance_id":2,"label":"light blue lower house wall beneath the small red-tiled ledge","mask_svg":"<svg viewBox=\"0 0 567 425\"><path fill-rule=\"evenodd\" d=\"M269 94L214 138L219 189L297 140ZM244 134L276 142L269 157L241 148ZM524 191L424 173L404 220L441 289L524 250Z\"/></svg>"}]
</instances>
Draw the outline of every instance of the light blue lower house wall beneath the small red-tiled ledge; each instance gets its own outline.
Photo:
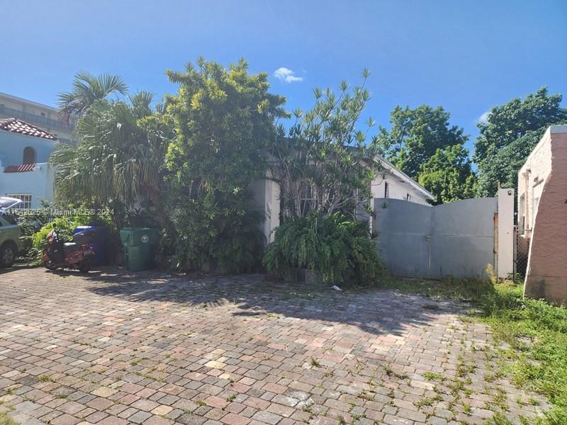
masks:
<instances>
[{"instance_id":1,"label":"light blue lower house wall beneath the small red-tiled ledge","mask_svg":"<svg viewBox=\"0 0 567 425\"><path fill-rule=\"evenodd\" d=\"M36 164L35 170L24 173L4 173L0 167L0 196L7 193L30 193L31 208L40 207L40 200L53 200L52 167Z\"/></svg>"}]
</instances>

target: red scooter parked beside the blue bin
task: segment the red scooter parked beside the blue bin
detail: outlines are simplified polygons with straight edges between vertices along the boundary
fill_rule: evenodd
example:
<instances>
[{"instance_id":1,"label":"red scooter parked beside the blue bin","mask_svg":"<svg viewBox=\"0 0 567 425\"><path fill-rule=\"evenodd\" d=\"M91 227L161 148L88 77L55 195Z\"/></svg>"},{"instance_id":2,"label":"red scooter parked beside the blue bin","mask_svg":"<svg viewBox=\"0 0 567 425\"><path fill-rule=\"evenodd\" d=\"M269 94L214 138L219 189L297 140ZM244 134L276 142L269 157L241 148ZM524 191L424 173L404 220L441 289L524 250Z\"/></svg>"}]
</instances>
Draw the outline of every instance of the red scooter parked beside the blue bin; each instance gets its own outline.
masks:
<instances>
[{"instance_id":1,"label":"red scooter parked beside the blue bin","mask_svg":"<svg viewBox=\"0 0 567 425\"><path fill-rule=\"evenodd\" d=\"M77 268L81 273L87 273L94 257L94 250L89 245L93 239L94 234L79 232L73 235L74 242L62 242L53 229L47 233L47 248L41 258L43 266L49 270Z\"/></svg>"}]
</instances>

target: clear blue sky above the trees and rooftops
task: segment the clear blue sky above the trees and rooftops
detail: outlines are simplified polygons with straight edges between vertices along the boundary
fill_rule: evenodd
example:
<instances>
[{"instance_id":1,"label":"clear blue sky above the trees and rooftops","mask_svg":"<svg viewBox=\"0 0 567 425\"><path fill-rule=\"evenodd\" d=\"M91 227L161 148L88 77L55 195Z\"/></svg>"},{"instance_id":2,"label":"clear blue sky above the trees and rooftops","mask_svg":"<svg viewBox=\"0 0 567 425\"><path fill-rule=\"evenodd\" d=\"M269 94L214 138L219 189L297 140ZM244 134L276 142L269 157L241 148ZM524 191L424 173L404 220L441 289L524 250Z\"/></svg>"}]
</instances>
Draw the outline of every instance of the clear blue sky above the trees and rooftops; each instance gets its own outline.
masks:
<instances>
[{"instance_id":1,"label":"clear blue sky above the trees and rooftops","mask_svg":"<svg viewBox=\"0 0 567 425\"><path fill-rule=\"evenodd\" d=\"M55 104L79 70L120 74L130 89L174 92L164 69L198 56L245 57L270 74L289 110L315 86L357 84L388 126L400 104L451 112L478 134L491 106L541 86L567 94L567 1L12 1L0 0L0 91ZM286 68L290 72L276 69ZM287 78L293 76L295 78ZM566 100L563 105L566 105Z\"/></svg>"}]
</instances>

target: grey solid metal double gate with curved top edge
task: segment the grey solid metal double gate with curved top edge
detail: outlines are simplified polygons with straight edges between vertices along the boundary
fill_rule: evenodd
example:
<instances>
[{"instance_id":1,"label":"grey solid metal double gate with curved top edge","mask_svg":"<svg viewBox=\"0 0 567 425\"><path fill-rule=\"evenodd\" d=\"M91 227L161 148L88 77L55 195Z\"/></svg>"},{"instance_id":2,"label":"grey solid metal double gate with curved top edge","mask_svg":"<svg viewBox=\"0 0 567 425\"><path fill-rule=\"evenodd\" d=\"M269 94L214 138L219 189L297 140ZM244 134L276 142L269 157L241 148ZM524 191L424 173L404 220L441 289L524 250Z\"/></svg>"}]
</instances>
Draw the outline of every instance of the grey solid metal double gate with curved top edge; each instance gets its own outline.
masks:
<instances>
[{"instance_id":1,"label":"grey solid metal double gate with curved top edge","mask_svg":"<svg viewBox=\"0 0 567 425\"><path fill-rule=\"evenodd\" d=\"M376 244L392 273L442 278L487 277L497 268L498 200L476 198L430 207L375 199Z\"/></svg>"}]
</instances>

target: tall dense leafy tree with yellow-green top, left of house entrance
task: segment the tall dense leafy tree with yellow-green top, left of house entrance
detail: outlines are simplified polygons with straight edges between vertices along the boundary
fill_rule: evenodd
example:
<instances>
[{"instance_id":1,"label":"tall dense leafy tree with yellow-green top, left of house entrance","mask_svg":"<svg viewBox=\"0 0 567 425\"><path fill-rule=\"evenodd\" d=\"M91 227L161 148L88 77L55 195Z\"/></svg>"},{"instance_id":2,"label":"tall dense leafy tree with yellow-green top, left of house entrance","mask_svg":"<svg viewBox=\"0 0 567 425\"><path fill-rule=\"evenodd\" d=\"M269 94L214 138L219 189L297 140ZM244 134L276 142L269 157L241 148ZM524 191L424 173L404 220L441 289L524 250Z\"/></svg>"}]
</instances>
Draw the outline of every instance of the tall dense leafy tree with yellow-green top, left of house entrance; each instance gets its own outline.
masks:
<instances>
[{"instance_id":1,"label":"tall dense leafy tree with yellow-green top, left of house entrance","mask_svg":"<svg viewBox=\"0 0 567 425\"><path fill-rule=\"evenodd\" d=\"M200 58L167 76L179 84L166 100L176 132L167 152L169 237L179 266L247 270L259 254L249 185L266 175L285 99L269 93L267 74L249 74L245 60L226 69Z\"/></svg>"}]
</instances>

